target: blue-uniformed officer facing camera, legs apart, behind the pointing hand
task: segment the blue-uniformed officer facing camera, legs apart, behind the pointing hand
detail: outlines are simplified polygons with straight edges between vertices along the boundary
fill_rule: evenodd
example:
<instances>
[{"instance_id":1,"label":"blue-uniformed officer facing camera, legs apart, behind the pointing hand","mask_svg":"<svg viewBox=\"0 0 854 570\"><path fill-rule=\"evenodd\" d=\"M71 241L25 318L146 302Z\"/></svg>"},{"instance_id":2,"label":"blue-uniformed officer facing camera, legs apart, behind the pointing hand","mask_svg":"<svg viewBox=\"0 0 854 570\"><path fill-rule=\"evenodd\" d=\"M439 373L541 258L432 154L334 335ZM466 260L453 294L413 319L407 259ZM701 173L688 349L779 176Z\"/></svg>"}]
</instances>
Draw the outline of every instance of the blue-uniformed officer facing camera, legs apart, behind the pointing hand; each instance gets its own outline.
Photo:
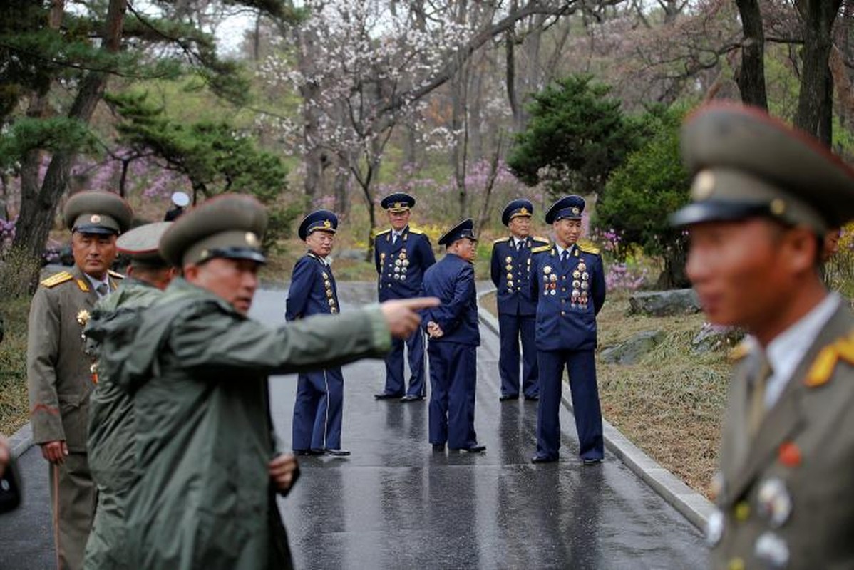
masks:
<instances>
[{"instance_id":1,"label":"blue-uniformed officer facing camera, legs apart, behind the pointing hand","mask_svg":"<svg viewBox=\"0 0 854 570\"><path fill-rule=\"evenodd\" d=\"M374 263L377 265L379 302L389 299L411 299L418 296L424 271L436 263L430 238L409 227L409 212L415 198L396 192L380 202L389 212L391 227L377 234L374 241ZM409 351L409 388L405 390L403 346ZM385 388L374 395L377 399L401 398L401 402L424 399L424 333L418 329L406 341L394 339L385 358Z\"/></svg>"}]
</instances>

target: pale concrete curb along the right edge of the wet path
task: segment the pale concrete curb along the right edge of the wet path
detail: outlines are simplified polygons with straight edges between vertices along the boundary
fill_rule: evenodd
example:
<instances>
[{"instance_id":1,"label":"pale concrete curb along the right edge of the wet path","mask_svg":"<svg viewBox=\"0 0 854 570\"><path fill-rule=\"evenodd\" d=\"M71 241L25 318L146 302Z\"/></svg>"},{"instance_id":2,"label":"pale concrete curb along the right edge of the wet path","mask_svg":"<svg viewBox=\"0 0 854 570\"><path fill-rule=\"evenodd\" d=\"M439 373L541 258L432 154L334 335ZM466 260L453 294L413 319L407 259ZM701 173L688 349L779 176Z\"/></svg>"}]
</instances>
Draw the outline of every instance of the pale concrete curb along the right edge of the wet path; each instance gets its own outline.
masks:
<instances>
[{"instance_id":1,"label":"pale concrete curb along the right edge of the wet path","mask_svg":"<svg viewBox=\"0 0 854 570\"><path fill-rule=\"evenodd\" d=\"M494 292L494 289L483 291L477 295L478 302L485 294ZM477 317L480 322L498 334L498 319L493 317L489 311L479 307ZM567 392L561 393L561 400L567 409L572 411L572 403ZM637 445L629 441L623 433L614 428L610 422L602 419L602 434L605 439L605 447L611 453L619 457L640 479L651 486L667 503L679 511L688 521L700 530L705 530L706 521L715 509L715 506L705 497L687 486L676 475L663 468L658 462L640 451Z\"/></svg>"}]
</instances>

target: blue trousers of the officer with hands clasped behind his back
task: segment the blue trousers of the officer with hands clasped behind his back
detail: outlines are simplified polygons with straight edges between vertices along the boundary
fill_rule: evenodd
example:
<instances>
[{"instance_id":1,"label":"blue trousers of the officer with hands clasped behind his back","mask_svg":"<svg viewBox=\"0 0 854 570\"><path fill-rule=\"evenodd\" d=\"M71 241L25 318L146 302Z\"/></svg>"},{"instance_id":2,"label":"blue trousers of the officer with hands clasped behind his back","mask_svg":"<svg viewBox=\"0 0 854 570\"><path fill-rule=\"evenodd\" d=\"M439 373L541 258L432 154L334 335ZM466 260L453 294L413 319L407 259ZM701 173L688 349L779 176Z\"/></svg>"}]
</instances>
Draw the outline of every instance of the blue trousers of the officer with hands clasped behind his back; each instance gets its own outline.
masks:
<instances>
[{"instance_id":1,"label":"blue trousers of the officer with hands clasped behind his back","mask_svg":"<svg viewBox=\"0 0 854 570\"><path fill-rule=\"evenodd\" d=\"M477 346L430 342L430 443L450 449L477 445Z\"/></svg>"}]
</instances>

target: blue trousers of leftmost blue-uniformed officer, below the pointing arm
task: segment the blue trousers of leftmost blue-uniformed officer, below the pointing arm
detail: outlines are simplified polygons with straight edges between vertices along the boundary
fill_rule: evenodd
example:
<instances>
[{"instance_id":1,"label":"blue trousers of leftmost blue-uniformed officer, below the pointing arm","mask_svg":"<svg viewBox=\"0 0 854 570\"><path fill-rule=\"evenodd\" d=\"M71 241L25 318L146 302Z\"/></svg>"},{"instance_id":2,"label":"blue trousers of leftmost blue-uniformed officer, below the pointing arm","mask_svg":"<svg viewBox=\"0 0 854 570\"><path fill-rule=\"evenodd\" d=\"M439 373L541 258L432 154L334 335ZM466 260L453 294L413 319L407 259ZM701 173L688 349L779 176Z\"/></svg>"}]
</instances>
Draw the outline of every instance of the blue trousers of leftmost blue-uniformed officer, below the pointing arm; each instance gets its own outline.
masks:
<instances>
[{"instance_id":1,"label":"blue trousers of leftmost blue-uniformed officer, below the pointing arm","mask_svg":"<svg viewBox=\"0 0 854 570\"><path fill-rule=\"evenodd\" d=\"M344 376L340 368L299 375L294 404L294 449L341 449L343 401Z\"/></svg>"}]
</instances>

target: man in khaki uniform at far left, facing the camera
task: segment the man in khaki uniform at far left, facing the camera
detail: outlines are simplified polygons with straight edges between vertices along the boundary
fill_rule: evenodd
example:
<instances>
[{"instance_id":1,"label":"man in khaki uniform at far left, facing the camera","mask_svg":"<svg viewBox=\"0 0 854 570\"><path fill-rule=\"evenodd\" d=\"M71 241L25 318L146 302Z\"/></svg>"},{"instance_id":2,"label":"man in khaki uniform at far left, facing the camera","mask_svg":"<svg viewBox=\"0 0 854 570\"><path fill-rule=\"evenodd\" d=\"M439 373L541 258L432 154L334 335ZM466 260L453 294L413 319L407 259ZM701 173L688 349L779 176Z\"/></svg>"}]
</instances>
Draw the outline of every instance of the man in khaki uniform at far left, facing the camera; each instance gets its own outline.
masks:
<instances>
[{"instance_id":1,"label":"man in khaki uniform at far left, facing the camera","mask_svg":"<svg viewBox=\"0 0 854 570\"><path fill-rule=\"evenodd\" d=\"M79 192L63 212L71 230L72 270L41 282L32 298L26 347L33 439L50 462L57 566L79 568L95 509L86 462L86 421L93 387L83 327L97 300L116 288L109 270L115 240L132 211L111 192Z\"/></svg>"}]
</instances>

